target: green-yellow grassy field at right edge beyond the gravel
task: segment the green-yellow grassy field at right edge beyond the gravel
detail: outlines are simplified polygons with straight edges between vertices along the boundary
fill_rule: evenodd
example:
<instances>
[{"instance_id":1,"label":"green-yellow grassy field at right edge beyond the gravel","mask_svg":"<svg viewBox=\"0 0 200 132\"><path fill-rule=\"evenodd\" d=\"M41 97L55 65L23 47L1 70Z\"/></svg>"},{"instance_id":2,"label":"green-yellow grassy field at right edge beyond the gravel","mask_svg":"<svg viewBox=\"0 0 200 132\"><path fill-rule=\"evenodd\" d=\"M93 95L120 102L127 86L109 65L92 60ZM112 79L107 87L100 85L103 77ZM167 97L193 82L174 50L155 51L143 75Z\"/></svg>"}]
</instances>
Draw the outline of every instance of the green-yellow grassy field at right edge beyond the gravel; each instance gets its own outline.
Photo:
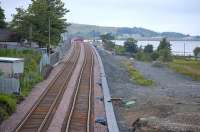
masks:
<instances>
[{"instance_id":1,"label":"green-yellow grassy field at right edge beyond the gravel","mask_svg":"<svg viewBox=\"0 0 200 132\"><path fill-rule=\"evenodd\" d=\"M200 80L200 61L176 58L169 63L169 67L193 80Z\"/></svg>"}]
</instances>

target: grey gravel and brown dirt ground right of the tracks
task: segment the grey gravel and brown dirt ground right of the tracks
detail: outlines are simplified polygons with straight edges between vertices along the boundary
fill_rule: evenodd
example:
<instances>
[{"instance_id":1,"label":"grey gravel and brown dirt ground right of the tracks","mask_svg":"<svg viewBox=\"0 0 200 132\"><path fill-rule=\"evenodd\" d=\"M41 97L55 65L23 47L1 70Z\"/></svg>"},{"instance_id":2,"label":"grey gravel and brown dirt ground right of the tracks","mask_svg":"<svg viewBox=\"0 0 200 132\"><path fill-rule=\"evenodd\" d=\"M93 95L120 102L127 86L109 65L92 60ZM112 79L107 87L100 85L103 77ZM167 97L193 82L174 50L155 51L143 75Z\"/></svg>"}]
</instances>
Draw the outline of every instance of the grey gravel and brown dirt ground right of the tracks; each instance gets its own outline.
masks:
<instances>
[{"instance_id":1,"label":"grey gravel and brown dirt ground right of the tracks","mask_svg":"<svg viewBox=\"0 0 200 132\"><path fill-rule=\"evenodd\" d=\"M121 132L134 130L200 132L200 82L178 74L167 67L152 63L134 62L134 66L148 79L155 81L150 87L131 81L121 62L122 56L99 50L112 97L123 98L114 102ZM126 106L127 101L135 101ZM138 123L140 122L140 123Z\"/></svg>"}]
</instances>

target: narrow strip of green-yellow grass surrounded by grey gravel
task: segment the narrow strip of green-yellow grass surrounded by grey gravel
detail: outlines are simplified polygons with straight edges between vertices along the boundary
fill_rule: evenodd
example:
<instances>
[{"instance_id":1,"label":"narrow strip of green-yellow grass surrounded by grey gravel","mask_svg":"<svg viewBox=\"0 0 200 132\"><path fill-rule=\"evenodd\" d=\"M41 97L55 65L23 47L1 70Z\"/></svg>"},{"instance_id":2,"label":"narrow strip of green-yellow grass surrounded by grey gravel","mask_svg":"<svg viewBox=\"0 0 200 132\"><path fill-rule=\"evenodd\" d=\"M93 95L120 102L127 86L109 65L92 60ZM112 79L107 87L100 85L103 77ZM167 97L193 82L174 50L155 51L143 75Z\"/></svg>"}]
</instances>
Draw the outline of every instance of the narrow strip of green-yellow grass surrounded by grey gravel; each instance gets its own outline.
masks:
<instances>
[{"instance_id":1,"label":"narrow strip of green-yellow grass surrounded by grey gravel","mask_svg":"<svg viewBox=\"0 0 200 132\"><path fill-rule=\"evenodd\" d=\"M131 63L123 62L123 64L128 70L131 80L133 80L135 83L142 86L151 86L154 84L153 80L145 79L144 76L136 68L134 68Z\"/></svg>"}]
</instances>

